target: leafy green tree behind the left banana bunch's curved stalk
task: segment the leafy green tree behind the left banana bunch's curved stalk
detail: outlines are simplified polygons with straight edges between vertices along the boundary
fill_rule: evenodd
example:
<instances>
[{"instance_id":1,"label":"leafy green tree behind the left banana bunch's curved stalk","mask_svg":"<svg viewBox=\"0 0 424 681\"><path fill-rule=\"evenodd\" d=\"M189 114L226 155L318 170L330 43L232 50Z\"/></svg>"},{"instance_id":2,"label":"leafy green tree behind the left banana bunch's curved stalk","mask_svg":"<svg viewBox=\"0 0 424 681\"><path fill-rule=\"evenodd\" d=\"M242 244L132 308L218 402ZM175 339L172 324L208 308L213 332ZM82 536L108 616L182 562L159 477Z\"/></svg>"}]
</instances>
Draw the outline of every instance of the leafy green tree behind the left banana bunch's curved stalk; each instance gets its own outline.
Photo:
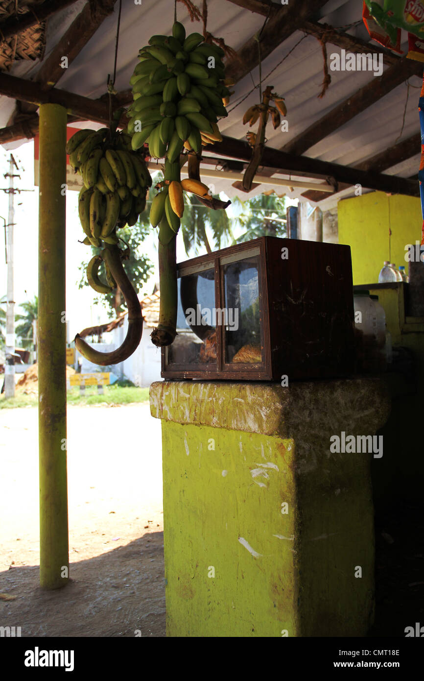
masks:
<instances>
[{"instance_id":1,"label":"leafy green tree behind the left banana bunch's curved stalk","mask_svg":"<svg viewBox=\"0 0 424 681\"><path fill-rule=\"evenodd\" d=\"M142 219L140 219L139 222L137 222L133 227L123 227L123 229L119 229L117 234L118 236L123 239L123 241L129 246L130 249L130 255L127 260L123 261L124 269L125 272L127 272L127 276L129 281L131 281L133 288L135 292L138 294L140 289L142 288L142 285L148 281L148 278L150 276L150 273L152 272L153 269L153 264L150 261L148 257L144 257L144 255L140 255L138 249L140 247L140 244L148 233L150 232L150 224L148 221L145 219L146 211L144 212L144 215L142 216ZM119 244L120 248L125 249L125 244L123 242L120 242ZM97 255L98 253L101 252L101 248L97 249L94 247L91 247L91 255L88 257L88 259L80 265L78 268L81 272L81 279L80 283L78 284L78 288L82 289L84 286L89 286L88 281L86 279L86 267L88 265L88 262L91 260L93 255ZM101 264L101 267L99 268L99 274L100 274L100 279L104 282L106 282L106 275L105 275L105 270L104 270L104 264ZM109 306L109 319L112 319L115 317L115 315L119 315L123 311L125 311L125 301L123 299L122 294L120 291L116 290L112 294L105 294L101 296L96 296L94 298L95 304L107 304Z\"/></svg>"}]
</instances>

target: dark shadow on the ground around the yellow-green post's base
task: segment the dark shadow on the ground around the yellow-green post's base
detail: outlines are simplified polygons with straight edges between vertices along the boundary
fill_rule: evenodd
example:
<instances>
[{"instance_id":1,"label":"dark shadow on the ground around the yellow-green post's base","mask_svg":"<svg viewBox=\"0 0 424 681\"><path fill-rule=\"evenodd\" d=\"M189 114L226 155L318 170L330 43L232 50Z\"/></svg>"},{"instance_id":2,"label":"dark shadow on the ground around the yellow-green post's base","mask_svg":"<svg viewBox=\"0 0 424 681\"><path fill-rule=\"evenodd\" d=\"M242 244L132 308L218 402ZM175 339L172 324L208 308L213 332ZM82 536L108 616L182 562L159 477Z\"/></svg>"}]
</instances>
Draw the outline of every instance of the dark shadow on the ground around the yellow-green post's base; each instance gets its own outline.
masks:
<instances>
[{"instance_id":1,"label":"dark shadow on the ground around the yellow-green post's base","mask_svg":"<svg viewBox=\"0 0 424 681\"><path fill-rule=\"evenodd\" d=\"M69 576L45 591L38 566L1 572L0 592L16 599L0 600L0 626L20 627L22 637L165 636L163 532L71 563Z\"/></svg>"}]
</instances>

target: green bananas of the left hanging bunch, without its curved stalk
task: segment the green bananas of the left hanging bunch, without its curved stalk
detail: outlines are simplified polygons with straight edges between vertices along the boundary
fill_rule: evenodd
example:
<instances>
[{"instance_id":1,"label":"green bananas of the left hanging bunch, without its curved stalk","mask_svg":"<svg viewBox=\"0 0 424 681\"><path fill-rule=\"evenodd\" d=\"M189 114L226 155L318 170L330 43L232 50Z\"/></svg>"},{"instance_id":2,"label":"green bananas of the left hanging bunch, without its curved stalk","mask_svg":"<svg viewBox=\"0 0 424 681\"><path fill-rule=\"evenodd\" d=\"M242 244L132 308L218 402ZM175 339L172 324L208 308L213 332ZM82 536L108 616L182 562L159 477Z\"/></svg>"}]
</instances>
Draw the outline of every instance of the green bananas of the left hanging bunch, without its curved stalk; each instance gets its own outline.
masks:
<instances>
[{"instance_id":1,"label":"green bananas of the left hanging bunch, without its curved stalk","mask_svg":"<svg viewBox=\"0 0 424 681\"><path fill-rule=\"evenodd\" d=\"M116 229L135 225L146 208L152 178L144 154L134 151L131 142L129 134L112 133L108 128L78 130L67 142L69 162L84 182L78 214L86 245L101 247L102 241L118 244ZM106 286L99 280L98 268L99 259L91 259L88 283L99 293L109 293L113 276L106 270Z\"/></svg>"}]
</instances>

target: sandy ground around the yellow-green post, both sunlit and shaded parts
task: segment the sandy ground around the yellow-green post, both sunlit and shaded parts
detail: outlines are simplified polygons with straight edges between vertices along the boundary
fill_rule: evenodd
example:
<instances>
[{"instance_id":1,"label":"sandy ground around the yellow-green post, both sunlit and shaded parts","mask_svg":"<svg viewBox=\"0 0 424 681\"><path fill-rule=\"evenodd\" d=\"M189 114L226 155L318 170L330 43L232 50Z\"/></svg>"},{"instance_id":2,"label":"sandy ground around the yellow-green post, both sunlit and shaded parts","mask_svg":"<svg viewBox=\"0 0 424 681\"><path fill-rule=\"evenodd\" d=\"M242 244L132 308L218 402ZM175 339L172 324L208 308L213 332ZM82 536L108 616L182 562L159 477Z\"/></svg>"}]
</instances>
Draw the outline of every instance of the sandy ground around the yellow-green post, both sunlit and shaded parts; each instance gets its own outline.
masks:
<instances>
[{"instance_id":1,"label":"sandy ground around the yellow-green post, both sunlit and shaded parts","mask_svg":"<svg viewBox=\"0 0 424 681\"><path fill-rule=\"evenodd\" d=\"M165 635L161 424L148 404L68 407L68 586L39 589L37 409L0 411L0 625Z\"/></svg>"}]
</instances>

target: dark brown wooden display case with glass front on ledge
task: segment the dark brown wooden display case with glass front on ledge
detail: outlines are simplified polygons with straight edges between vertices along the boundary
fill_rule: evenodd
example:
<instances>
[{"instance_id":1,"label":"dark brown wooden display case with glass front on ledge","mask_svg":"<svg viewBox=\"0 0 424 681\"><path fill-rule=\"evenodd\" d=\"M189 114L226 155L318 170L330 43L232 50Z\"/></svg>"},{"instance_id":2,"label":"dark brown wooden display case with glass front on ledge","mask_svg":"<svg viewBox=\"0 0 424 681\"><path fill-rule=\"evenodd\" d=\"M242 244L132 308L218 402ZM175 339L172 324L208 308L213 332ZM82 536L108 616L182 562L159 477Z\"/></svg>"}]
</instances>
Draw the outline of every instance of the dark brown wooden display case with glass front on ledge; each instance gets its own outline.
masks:
<instances>
[{"instance_id":1,"label":"dark brown wooden display case with glass front on ledge","mask_svg":"<svg viewBox=\"0 0 424 681\"><path fill-rule=\"evenodd\" d=\"M167 379L281 381L354 373L350 247L263 236L177 266Z\"/></svg>"}]
</instances>

